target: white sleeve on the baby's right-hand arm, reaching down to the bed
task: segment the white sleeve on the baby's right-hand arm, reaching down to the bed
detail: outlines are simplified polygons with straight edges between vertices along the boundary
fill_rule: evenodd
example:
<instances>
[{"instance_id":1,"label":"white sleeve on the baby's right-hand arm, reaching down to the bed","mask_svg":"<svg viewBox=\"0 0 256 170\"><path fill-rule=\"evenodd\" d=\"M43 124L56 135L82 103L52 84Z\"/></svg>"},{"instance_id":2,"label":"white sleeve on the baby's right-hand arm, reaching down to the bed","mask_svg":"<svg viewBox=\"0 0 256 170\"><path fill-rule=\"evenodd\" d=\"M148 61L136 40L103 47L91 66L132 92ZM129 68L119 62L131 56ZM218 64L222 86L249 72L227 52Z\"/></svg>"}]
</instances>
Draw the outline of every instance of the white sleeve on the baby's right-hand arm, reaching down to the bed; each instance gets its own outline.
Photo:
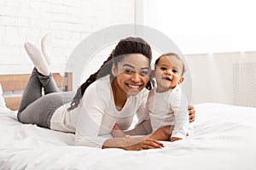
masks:
<instances>
[{"instance_id":1,"label":"white sleeve on the baby's right-hand arm, reaching down to the bed","mask_svg":"<svg viewBox=\"0 0 256 170\"><path fill-rule=\"evenodd\" d=\"M184 139L189 129L188 100L181 88L172 92L171 96L172 111L174 111L174 128L172 137Z\"/></svg>"}]
</instances>

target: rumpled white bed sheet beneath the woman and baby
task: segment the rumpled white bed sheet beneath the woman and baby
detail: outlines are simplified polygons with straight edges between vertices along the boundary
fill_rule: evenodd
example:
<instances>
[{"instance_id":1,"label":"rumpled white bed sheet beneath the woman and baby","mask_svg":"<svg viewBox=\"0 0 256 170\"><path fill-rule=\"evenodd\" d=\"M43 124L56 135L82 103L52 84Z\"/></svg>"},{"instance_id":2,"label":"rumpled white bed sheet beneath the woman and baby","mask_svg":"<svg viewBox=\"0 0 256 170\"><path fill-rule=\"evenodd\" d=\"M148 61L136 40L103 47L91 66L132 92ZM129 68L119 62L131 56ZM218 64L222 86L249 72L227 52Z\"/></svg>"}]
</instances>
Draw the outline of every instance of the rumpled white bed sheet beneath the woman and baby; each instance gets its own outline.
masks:
<instances>
[{"instance_id":1,"label":"rumpled white bed sheet beneath the woman and baby","mask_svg":"<svg viewBox=\"0 0 256 170\"><path fill-rule=\"evenodd\" d=\"M256 169L256 108L195 105L195 133L157 150L73 145L73 134L17 122L0 111L0 169Z\"/></svg>"}]
</instances>

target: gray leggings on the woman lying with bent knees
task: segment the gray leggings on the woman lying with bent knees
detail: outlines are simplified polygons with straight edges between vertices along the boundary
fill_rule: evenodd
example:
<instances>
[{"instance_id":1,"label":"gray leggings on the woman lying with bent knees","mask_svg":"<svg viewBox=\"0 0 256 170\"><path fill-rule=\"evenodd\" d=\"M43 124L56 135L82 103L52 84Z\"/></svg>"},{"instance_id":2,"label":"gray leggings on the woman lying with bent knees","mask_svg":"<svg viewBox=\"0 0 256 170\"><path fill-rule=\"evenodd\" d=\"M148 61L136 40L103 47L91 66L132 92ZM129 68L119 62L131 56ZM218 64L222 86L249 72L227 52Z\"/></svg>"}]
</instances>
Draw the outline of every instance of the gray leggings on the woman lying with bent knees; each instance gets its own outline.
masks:
<instances>
[{"instance_id":1,"label":"gray leggings on the woman lying with bent knees","mask_svg":"<svg viewBox=\"0 0 256 170\"><path fill-rule=\"evenodd\" d=\"M43 88L45 95L42 96ZM73 98L73 92L58 91L51 74L44 76L34 68L20 101L18 120L50 128L50 119L56 109Z\"/></svg>"}]
</instances>

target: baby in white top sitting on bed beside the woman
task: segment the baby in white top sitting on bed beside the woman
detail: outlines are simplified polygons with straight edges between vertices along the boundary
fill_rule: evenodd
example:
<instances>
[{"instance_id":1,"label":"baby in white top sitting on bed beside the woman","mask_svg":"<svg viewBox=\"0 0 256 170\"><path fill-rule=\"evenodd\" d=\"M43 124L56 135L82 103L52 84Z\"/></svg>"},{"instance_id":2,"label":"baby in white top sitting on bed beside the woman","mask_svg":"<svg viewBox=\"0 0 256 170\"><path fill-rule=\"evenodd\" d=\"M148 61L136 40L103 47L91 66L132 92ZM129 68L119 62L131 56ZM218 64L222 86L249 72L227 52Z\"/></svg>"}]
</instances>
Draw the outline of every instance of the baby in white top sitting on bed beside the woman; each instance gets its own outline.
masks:
<instances>
[{"instance_id":1,"label":"baby in white top sitting on bed beside the woman","mask_svg":"<svg viewBox=\"0 0 256 170\"><path fill-rule=\"evenodd\" d=\"M143 122L143 129L154 133L160 127L171 126L171 142L184 139L192 129L192 125L189 125L188 101L180 87L184 80L184 71L183 60L177 54L162 54L156 59L153 77L157 87L148 93L144 111L147 120ZM138 124L141 125L142 123ZM115 125L112 131L114 137L126 134L126 138L139 133L134 130L123 132L118 125Z\"/></svg>"}]
</instances>

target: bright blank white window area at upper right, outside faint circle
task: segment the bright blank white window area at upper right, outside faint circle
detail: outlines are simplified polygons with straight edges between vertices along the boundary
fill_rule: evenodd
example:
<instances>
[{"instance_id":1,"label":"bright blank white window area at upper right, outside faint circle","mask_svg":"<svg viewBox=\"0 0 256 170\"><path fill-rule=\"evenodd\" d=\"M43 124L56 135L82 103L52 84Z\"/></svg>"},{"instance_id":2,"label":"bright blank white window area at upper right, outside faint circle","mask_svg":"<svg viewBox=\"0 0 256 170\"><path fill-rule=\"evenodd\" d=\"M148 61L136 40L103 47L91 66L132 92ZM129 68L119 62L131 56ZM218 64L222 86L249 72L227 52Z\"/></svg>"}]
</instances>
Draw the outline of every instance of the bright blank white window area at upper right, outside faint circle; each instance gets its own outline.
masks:
<instances>
[{"instance_id":1,"label":"bright blank white window area at upper right, outside faint circle","mask_svg":"<svg viewBox=\"0 0 256 170\"><path fill-rule=\"evenodd\" d=\"M144 25L172 38L183 54L256 49L254 0L144 0Z\"/></svg>"}]
</instances>

